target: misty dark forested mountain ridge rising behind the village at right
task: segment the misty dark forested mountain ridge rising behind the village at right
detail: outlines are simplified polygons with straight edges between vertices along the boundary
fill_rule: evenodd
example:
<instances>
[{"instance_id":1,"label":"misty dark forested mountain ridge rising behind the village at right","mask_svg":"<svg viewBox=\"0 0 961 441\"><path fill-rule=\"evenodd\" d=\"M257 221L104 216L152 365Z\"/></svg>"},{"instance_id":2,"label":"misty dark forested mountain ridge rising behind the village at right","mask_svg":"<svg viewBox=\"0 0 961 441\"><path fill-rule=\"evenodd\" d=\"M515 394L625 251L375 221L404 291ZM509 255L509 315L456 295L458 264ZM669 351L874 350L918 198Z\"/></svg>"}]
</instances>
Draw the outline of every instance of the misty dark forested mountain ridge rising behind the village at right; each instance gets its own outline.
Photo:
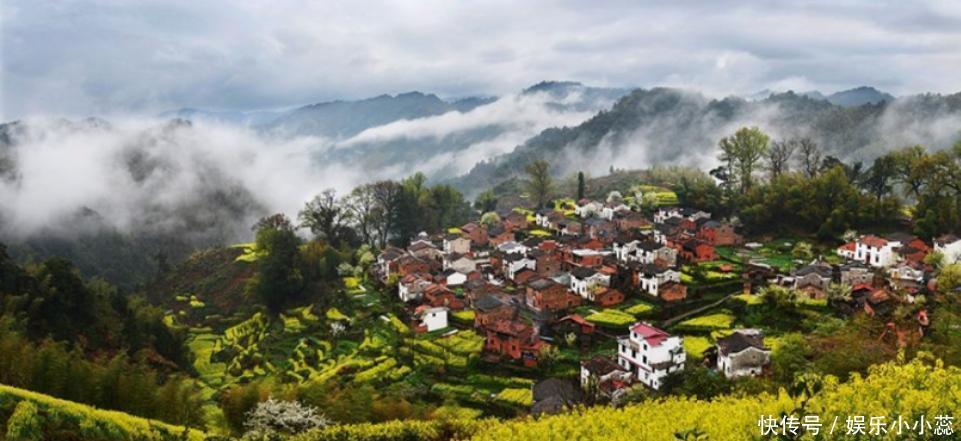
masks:
<instances>
[{"instance_id":1,"label":"misty dark forested mountain ridge rising behind the village at right","mask_svg":"<svg viewBox=\"0 0 961 441\"><path fill-rule=\"evenodd\" d=\"M871 160L904 145L945 148L961 138L961 94L842 106L793 92L748 101L708 99L679 89L638 89L582 124L546 129L451 182L476 193L519 176L533 159L549 160L558 176L657 164L713 168L718 140L742 126L759 126L775 139L810 137L827 154Z\"/></svg>"}]
</instances>

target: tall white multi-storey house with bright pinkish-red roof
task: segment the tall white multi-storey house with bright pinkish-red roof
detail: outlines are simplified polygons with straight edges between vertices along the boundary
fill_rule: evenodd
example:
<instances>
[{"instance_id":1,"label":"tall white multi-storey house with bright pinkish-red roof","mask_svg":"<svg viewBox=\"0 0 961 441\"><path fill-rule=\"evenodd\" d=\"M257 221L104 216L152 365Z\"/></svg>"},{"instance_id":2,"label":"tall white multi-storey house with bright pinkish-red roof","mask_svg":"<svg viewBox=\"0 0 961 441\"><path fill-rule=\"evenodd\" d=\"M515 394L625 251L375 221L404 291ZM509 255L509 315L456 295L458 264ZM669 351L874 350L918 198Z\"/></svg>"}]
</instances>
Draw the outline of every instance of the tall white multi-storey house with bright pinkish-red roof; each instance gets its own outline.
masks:
<instances>
[{"instance_id":1,"label":"tall white multi-storey house with bright pinkish-red roof","mask_svg":"<svg viewBox=\"0 0 961 441\"><path fill-rule=\"evenodd\" d=\"M617 339L617 346L621 367L652 389L659 389L668 374L684 370L687 360L681 337L644 322L632 325L628 336Z\"/></svg>"}]
</instances>

